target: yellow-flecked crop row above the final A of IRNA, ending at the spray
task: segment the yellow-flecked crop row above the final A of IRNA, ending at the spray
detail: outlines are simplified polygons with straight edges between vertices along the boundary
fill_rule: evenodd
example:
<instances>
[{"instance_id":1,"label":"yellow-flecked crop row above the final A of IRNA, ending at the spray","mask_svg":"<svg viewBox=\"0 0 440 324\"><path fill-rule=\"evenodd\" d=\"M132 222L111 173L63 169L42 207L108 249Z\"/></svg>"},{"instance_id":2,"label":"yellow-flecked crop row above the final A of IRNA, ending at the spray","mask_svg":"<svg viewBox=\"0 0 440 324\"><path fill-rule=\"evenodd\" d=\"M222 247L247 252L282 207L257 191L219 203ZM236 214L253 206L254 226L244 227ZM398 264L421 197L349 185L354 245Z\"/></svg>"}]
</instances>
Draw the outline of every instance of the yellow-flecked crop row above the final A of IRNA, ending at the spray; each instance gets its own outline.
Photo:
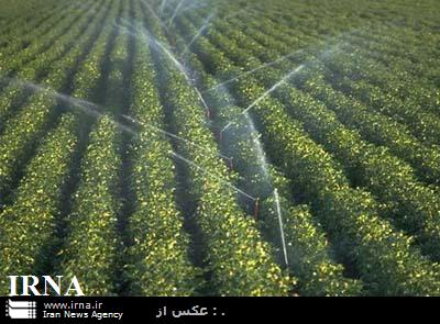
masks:
<instances>
[{"instance_id":1,"label":"yellow-flecked crop row above the final A of IRNA, ending at the spray","mask_svg":"<svg viewBox=\"0 0 440 324\"><path fill-rule=\"evenodd\" d=\"M69 234L59 252L58 272L67 278L76 276L86 295L111 295L118 288L119 139L114 122L106 115L98 118L81 160L80 183L68 215Z\"/></svg>"}]
</instances>

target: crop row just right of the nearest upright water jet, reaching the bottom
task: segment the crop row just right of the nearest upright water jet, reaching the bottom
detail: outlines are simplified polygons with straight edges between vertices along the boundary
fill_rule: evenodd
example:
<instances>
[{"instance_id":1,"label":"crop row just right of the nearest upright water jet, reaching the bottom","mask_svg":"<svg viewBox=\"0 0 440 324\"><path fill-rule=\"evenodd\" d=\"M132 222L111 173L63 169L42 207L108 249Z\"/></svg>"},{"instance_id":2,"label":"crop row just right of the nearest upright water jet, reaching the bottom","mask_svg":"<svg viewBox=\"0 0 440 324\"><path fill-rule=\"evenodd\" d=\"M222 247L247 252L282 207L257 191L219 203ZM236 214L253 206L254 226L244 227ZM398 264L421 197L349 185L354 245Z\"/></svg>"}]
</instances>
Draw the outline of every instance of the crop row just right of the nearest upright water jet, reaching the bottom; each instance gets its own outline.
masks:
<instances>
[{"instance_id":1,"label":"crop row just right of the nearest upright water jet, reaching the bottom","mask_svg":"<svg viewBox=\"0 0 440 324\"><path fill-rule=\"evenodd\" d=\"M242 109L235 105L222 107L219 112L219 126L223 127L229 121L238 121ZM274 197L265 194L265 175L255 171L258 165L258 152L255 148L255 136L257 133L243 123L237 122L229 132L230 141L227 153L233 154L234 164L244 177L241 182L249 186L246 190L254 188L253 194L264 198L262 200L262 226L267 236L279 245L279 223L276 214ZM241 133L241 134L240 134ZM224 135L226 136L226 135ZM273 167L272 167L273 168ZM330 257L329 244L319 225L305 205L292 203L290 181L283 175L270 168L270 178L274 189L280 192L280 211L284 221L284 233L287 243L287 257L292 273L298 278L298 290L302 295L344 295L361 293L360 282L343 278L343 267L336 264ZM263 182L263 183L262 183ZM240 183L240 182L239 182ZM266 185L267 186L267 185ZM263 189L263 190L262 190ZM278 254L280 255L280 250ZM284 260L283 260L284 262Z\"/></svg>"}]
</instances>

